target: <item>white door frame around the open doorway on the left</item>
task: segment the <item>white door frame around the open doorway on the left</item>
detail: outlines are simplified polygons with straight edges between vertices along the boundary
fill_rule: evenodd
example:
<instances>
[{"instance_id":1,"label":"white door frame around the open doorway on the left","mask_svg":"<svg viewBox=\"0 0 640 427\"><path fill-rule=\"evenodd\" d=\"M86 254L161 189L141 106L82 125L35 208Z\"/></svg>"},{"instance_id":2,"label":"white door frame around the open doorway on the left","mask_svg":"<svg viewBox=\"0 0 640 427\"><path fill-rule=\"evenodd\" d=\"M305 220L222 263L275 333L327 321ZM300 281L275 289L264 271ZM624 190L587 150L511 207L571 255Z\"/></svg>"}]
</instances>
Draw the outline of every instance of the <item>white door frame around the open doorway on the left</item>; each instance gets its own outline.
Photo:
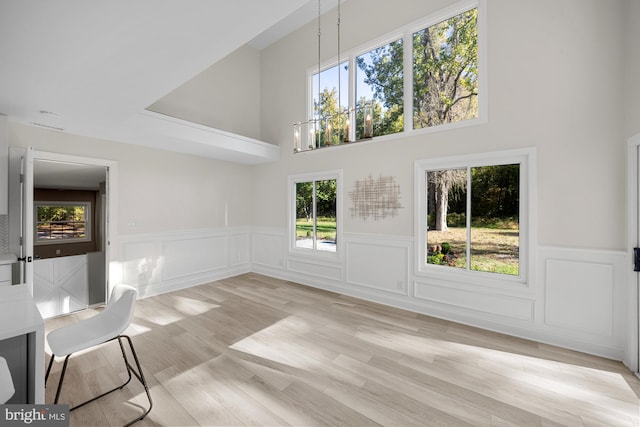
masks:
<instances>
[{"instance_id":1,"label":"white door frame around the open doorway on the left","mask_svg":"<svg viewBox=\"0 0 640 427\"><path fill-rule=\"evenodd\" d=\"M32 150L31 147L27 150ZM26 154L26 152L25 152ZM52 153L47 151L32 150L32 155L29 156L31 160L47 160L62 163L77 163L82 165L92 166L104 166L107 171L107 209L106 209L106 230L105 230L105 258L107 262L107 268L105 269L107 288L105 289L105 302L108 296L111 294L111 288L113 287L113 280L118 277L119 271L117 271L118 244L117 244L117 230L118 230L118 162L114 160L97 159L93 157L82 157L71 154ZM25 156L26 157L26 156ZM33 168L31 168L33 172ZM25 179L25 182L33 183L33 176L31 179ZM27 191L28 192L28 191ZM33 189L31 189L31 194ZM33 200L30 201L31 207L27 207L30 212L33 212ZM29 227L31 233L33 233L33 227ZM28 283L31 292L33 292L33 283Z\"/></svg>"}]
</instances>

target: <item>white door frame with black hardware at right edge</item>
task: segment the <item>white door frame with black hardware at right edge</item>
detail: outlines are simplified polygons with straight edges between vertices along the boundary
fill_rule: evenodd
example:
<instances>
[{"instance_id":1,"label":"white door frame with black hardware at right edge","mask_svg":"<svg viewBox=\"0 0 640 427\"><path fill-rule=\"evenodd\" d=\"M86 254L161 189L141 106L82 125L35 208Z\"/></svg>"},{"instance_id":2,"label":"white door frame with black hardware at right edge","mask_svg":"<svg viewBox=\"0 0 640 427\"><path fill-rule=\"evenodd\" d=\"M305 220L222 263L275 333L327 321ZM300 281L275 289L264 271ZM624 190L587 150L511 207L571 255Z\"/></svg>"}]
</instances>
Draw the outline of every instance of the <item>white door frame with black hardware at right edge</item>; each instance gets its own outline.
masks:
<instances>
[{"instance_id":1,"label":"white door frame with black hardware at right edge","mask_svg":"<svg viewBox=\"0 0 640 427\"><path fill-rule=\"evenodd\" d=\"M633 248L640 247L640 133L628 140L627 147L627 348L624 364L638 375L640 370L640 273L633 271Z\"/></svg>"}]
</instances>

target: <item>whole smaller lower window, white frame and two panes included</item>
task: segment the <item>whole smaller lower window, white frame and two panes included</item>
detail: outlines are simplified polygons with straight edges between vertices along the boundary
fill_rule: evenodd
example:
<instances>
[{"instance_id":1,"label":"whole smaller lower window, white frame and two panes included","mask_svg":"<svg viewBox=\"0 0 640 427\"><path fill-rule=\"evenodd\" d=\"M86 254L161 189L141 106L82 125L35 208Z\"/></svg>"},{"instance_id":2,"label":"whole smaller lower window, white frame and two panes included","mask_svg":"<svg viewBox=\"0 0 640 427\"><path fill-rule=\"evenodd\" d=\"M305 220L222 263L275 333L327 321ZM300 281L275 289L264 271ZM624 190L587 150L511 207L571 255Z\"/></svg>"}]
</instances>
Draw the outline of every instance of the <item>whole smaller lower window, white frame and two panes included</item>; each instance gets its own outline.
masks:
<instances>
[{"instance_id":1,"label":"whole smaller lower window, white frame and two panes included","mask_svg":"<svg viewBox=\"0 0 640 427\"><path fill-rule=\"evenodd\" d=\"M340 173L289 178L292 247L306 253L338 251Z\"/></svg>"}]
</instances>

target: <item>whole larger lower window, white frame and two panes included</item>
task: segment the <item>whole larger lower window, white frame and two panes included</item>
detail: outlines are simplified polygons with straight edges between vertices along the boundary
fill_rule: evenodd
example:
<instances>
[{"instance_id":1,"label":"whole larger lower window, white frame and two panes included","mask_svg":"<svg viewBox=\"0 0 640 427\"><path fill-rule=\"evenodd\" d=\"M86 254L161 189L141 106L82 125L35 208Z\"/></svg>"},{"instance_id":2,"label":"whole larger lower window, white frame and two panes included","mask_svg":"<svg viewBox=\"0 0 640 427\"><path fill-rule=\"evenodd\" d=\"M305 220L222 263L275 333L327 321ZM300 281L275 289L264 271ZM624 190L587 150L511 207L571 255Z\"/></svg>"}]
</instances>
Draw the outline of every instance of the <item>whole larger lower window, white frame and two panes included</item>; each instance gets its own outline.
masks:
<instances>
[{"instance_id":1,"label":"whole larger lower window, white frame and two panes included","mask_svg":"<svg viewBox=\"0 0 640 427\"><path fill-rule=\"evenodd\" d=\"M529 151L416 163L422 270L525 281Z\"/></svg>"}]
</instances>

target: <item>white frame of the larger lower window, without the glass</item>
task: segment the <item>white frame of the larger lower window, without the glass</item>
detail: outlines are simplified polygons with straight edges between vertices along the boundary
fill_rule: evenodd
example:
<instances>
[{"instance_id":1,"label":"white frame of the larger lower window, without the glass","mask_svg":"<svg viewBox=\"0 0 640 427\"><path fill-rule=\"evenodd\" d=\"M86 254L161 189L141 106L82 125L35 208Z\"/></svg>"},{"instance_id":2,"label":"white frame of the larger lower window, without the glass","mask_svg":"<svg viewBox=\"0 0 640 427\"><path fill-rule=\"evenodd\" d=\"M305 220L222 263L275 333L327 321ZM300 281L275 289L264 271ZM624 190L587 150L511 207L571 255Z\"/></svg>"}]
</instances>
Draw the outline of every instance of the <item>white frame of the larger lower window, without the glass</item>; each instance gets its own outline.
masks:
<instances>
[{"instance_id":1,"label":"white frame of the larger lower window, without the glass","mask_svg":"<svg viewBox=\"0 0 640 427\"><path fill-rule=\"evenodd\" d=\"M491 273L485 271L451 268L427 263L427 180L429 171L468 167L496 166L506 164L520 165L520 206L519 206L519 275ZM416 160L414 165L415 179L415 265L416 275L440 277L458 283L469 283L474 286L529 287L532 274L535 248L535 169L536 152L534 148L504 150L489 153L452 156Z\"/></svg>"}]
</instances>

